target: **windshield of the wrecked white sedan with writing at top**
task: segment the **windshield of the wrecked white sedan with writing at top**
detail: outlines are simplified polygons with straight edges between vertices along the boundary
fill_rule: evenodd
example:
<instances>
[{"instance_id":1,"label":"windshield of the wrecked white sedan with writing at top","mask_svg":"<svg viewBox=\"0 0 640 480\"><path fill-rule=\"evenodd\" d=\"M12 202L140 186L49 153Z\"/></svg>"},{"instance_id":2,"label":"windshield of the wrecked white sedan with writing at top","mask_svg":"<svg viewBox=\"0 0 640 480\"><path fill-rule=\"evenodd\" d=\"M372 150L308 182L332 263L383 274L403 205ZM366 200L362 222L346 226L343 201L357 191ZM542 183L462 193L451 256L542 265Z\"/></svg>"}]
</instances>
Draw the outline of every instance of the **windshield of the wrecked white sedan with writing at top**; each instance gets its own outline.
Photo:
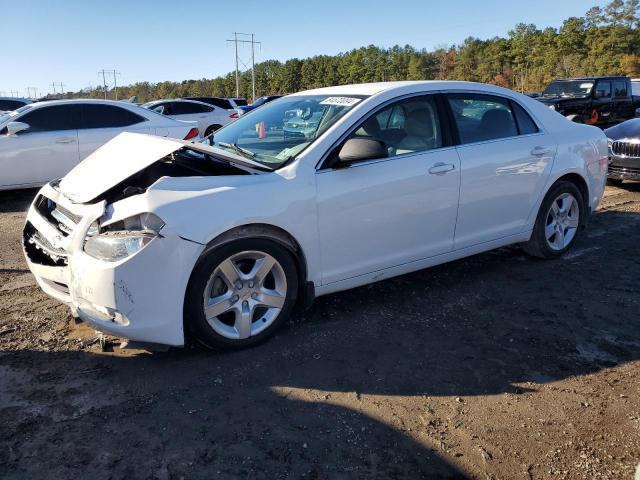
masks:
<instances>
[{"instance_id":1,"label":"windshield of the wrecked white sedan with writing at top","mask_svg":"<svg viewBox=\"0 0 640 480\"><path fill-rule=\"evenodd\" d=\"M363 96L301 95L269 102L203 143L276 169L298 155Z\"/></svg>"}]
</instances>

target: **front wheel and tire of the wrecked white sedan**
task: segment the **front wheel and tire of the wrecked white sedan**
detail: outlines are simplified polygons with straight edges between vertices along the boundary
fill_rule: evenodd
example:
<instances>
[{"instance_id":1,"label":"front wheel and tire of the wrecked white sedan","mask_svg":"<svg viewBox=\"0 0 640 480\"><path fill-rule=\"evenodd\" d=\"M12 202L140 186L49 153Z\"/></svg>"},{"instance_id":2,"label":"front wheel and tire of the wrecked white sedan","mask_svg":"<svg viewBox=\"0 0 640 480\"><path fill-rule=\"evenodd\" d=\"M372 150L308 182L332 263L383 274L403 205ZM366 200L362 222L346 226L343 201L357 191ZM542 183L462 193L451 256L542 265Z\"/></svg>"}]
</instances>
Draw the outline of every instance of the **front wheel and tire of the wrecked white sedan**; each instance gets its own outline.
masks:
<instances>
[{"instance_id":1,"label":"front wheel and tire of the wrecked white sedan","mask_svg":"<svg viewBox=\"0 0 640 480\"><path fill-rule=\"evenodd\" d=\"M207 348L248 347L284 324L297 295L298 269L285 247L264 238L235 240L205 251L196 263L185 296L185 327L190 339Z\"/></svg>"}]
</instances>

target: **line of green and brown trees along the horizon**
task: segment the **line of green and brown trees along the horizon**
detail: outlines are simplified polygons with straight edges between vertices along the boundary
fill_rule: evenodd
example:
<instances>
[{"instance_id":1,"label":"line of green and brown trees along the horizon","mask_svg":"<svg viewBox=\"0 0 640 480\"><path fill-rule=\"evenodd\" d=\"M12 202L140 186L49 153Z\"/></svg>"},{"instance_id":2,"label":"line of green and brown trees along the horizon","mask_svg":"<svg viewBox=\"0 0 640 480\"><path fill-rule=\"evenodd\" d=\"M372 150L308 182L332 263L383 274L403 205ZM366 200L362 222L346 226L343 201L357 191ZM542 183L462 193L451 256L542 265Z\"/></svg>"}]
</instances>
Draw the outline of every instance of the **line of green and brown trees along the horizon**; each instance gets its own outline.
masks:
<instances>
[{"instance_id":1,"label":"line of green and brown trees along the horizon","mask_svg":"<svg viewBox=\"0 0 640 480\"><path fill-rule=\"evenodd\" d=\"M566 19L559 28L519 23L506 37L468 37L434 50L374 45L338 55L267 60L255 65L257 95L286 94L331 85L391 80L470 80L536 92L558 77L640 77L640 0L612 0ZM114 92L107 91L108 98ZM119 98L146 102L185 96L236 95L235 72L212 79L139 82L118 87ZM251 71L242 72L240 96L251 97ZM103 98L102 88L66 97Z\"/></svg>"}]
</instances>

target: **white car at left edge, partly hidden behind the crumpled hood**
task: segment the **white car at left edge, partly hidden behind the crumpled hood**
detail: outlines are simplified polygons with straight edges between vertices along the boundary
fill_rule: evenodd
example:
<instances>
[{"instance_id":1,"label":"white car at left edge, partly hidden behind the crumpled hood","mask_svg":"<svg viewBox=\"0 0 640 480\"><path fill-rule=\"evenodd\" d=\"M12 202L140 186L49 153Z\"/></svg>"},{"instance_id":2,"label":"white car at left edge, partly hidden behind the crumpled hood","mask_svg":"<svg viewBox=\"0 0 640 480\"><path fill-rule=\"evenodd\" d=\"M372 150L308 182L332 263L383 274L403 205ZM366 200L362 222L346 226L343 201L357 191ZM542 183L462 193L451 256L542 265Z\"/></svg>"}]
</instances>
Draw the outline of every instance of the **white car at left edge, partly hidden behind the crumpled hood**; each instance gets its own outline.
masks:
<instances>
[{"instance_id":1,"label":"white car at left edge, partly hidden behind the crumpled hood","mask_svg":"<svg viewBox=\"0 0 640 480\"><path fill-rule=\"evenodd\" d=\"M178 122L124 102L31 103L0 115L0 190L41 186L60 178L122 132L180 139L199 134L195 122ZM120 159L112 162L116 160Z\"/></svg>"}]
</instances>

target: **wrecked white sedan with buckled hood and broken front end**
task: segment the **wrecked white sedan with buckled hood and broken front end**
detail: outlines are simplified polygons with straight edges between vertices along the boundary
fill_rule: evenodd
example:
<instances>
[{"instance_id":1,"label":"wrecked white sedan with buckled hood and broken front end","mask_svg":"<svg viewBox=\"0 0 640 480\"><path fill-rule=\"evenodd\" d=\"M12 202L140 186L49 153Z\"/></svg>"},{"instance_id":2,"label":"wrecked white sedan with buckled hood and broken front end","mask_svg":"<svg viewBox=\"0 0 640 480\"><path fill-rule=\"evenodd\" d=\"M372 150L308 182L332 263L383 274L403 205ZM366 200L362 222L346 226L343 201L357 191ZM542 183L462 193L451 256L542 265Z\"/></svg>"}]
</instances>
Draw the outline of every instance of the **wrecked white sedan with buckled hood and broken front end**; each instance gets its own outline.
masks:
<instances>
[{"instance_id":1,"label":"wrecked white sedan with buckled hood and broken front end","mask_svg":"<svg viewBox=\"0 0 640 480\"><path fill-rule=\"evenodd\" d=\"M509 244L562 255L607 160L600 130L500 87L322 88L198 144L118 136L40 190L24 251L100 331L244 347L320 295Z\"/></svg>"}]
</instances>

